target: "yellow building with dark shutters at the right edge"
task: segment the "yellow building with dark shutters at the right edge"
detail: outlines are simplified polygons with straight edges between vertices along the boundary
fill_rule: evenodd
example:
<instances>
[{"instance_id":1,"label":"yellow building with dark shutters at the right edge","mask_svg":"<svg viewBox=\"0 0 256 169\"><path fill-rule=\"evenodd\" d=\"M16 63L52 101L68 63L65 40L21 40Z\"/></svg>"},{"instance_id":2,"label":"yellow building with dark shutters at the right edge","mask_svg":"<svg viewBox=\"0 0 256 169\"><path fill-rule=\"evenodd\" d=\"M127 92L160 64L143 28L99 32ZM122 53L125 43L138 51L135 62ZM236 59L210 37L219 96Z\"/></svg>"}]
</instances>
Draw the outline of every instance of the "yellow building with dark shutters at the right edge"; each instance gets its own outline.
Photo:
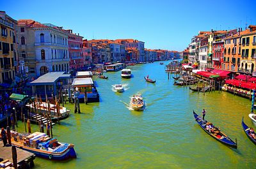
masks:
<instances>
[{"instance_id":1,"label":"yellow building with dark shutters at the right edge","mask_svg":"<svg viewBox=\"0 0 256 169\"><path fill-rule=\"evenodd\" d=\"M241 69L240 72L256 75L256 26L249 26L249 31L241 37Z\"/></svg>"}]
</instances>

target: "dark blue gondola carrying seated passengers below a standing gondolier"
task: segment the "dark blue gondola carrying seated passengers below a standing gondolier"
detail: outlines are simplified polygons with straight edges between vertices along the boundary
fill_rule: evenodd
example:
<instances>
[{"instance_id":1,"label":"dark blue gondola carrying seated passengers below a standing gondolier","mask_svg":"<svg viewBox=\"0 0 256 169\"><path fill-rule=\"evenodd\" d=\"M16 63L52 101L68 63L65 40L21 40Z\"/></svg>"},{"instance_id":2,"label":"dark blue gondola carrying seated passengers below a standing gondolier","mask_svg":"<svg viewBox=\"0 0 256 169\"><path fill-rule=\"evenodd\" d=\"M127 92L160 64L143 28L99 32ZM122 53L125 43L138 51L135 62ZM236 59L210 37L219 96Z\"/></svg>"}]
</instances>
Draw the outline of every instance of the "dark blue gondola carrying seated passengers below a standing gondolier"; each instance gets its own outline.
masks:
<instances>
[{"instance_id":1,"label":"dark blue gondola carrying seated passengers below a standing gondolier","mask_svg":"<svg viewBox=\"0 0 256 169\"><path fill-rule=\"evenodd\" d=\"M231 140L231 138L229 138L227 135L225 135L225 133L223 133L222 131L220 131L220 129L216 128L215 126L213 126L211 132L206 129L207 126L207 121L204 121L202 119L202 117L200 117L200 115L197 115L194 111L193 111L194 117L196 122L199 124L199 126L204 129L204 131L208 134L211 135L213 138L215 138L216 140L218 140L221 143L224 143L225 145L228 145L232 148L237 149L237 143L234 142L233 140Z\"/></svg>"}]
</instances>

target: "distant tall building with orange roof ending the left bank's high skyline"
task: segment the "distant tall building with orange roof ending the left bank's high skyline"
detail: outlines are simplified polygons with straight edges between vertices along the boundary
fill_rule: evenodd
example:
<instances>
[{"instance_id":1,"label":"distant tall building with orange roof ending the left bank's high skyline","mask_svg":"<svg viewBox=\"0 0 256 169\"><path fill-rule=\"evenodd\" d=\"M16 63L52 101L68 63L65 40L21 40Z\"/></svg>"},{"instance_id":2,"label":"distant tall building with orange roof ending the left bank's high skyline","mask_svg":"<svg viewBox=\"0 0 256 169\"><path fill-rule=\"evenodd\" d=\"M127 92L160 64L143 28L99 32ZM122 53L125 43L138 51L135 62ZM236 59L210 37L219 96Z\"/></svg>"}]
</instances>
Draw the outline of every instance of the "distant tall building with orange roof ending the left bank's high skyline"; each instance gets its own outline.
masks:
<instances>
[{"instance_id":1,"label":"distant tall building with orange roof ending the left bank's high skyline","mask_svg":"<svg viewBox=\"0 0 256 169\"><path fill-rule=\"evenodd\" d=\"M125 45L125 48L136 48L139 52L139 59L137 62L144 62L145 61L145 42L133 40L133 39L120 39L115 40L116 43L121 43Z\"/></svg>"}]
</instances>

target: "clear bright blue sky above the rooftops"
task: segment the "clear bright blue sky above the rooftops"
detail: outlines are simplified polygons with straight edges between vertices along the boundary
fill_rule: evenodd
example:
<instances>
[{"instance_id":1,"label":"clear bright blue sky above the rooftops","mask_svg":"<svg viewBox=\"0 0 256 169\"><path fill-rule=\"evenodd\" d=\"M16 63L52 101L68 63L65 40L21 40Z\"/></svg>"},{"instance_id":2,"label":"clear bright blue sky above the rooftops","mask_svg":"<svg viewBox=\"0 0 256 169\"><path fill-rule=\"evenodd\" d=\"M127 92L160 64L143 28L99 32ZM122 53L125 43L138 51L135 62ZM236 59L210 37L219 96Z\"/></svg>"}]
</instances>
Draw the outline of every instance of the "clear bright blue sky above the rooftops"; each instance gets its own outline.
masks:
<instances>
[{"instance_id":1,"label":"clear bright blue sky above the rooftops","mask_svg":"<svg viewBox=\"0 0 256 169\"><path fill-rule=\"evenodd\" d=\"M198 31L256 25L256 1L0 0L10 17L73 29L84 39L132 38L145 48L182 51Z\"/></svg>"}]
</instances>

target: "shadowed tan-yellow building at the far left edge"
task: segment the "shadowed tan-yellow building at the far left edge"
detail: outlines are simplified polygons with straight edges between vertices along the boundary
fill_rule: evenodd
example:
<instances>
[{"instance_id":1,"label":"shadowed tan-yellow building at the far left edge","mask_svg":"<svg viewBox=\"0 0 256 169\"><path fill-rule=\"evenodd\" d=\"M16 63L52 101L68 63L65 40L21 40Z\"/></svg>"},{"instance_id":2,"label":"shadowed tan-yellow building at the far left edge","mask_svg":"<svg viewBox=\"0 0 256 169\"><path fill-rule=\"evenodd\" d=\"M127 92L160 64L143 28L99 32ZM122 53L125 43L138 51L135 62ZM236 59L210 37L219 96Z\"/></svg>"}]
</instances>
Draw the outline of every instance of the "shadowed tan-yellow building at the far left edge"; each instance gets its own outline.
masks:
<instances>
[{"instance_id":1,"label":"shadowed tan-yellow building at the far left edge","mask_svg":"<svg viewBox=\"0 0 256 169\"><path fill-rule=\"evenodd\" d=\"M0 11L0 84L12 84L17 66L17 21Z\"/></svg>"}]
</instances>

